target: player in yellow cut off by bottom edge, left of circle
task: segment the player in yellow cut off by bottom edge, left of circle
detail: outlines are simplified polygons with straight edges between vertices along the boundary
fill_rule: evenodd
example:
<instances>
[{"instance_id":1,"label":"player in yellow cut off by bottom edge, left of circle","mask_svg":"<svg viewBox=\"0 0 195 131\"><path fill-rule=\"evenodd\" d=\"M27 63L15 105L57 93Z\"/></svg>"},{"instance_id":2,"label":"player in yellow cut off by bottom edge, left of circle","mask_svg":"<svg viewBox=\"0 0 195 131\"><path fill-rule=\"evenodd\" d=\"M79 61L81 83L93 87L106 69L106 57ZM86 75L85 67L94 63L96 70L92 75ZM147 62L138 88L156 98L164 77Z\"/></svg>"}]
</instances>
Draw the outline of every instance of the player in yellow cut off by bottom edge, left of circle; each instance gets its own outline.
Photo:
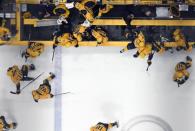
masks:
<instances>
[{"instance_id":1,"label":"player in yellow cut off by bottom edge, left of circle","mask_svg":"<svg viewBox=\"0 0 195 131\"><path fill-rule=\"evenodd\" d=\"M116 126L118 128L119 127L118 122L109 123L109 124L99 122L97 125L91 127L90 131L108 131L109 129L113 128L114 126Z\"/></svg>"}]
</instances>

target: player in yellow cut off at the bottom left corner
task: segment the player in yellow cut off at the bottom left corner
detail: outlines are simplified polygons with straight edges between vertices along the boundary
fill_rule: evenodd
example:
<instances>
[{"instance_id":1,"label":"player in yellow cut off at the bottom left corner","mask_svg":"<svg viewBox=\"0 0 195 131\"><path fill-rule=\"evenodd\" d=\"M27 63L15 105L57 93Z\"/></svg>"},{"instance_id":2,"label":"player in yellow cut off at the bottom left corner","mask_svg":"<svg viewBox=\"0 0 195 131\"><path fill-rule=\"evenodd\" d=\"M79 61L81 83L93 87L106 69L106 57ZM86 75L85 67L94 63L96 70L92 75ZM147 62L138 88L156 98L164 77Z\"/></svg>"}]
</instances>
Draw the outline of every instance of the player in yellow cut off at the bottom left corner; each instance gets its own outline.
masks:
<instances>
[{"instance_id":1,"label":"player in yellow cut off at the bottom left corner","mask_svg":"<svg viewBox=\"0 0 195 131\"><path fill-rule=\"evenodd\" d=\"M17 123L12 122L8 124L4 116L0 116L0 131L8 131L10 129L16 129Z\"/></svg>"}]
</instances>

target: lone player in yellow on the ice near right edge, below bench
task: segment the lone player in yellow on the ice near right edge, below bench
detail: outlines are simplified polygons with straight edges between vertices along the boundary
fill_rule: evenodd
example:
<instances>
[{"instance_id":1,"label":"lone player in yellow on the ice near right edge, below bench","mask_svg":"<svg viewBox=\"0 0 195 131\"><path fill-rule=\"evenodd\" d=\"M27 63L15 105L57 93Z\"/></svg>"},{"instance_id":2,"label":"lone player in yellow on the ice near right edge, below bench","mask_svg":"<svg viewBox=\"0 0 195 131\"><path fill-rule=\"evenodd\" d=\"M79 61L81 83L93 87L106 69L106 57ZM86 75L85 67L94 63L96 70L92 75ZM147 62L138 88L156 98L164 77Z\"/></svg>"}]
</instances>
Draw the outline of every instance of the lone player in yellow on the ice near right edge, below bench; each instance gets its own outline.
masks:
<instances>
[{"instance_id":1,"label":"lone player in yellow on the ice near right edge, below bench","mask_svg":"<svg viewBox=\"0 0 195 131\"><path fill-rule=\"evenodd\" d=\"M192 58L187 56L186 62L179 62L175 67L175 74L173 76L173 80L177 82L178 87L181 84L184 84L189 76L190 73L187 71L188 68L190 68L192 65Z\"/></svg>"}]
</instances>

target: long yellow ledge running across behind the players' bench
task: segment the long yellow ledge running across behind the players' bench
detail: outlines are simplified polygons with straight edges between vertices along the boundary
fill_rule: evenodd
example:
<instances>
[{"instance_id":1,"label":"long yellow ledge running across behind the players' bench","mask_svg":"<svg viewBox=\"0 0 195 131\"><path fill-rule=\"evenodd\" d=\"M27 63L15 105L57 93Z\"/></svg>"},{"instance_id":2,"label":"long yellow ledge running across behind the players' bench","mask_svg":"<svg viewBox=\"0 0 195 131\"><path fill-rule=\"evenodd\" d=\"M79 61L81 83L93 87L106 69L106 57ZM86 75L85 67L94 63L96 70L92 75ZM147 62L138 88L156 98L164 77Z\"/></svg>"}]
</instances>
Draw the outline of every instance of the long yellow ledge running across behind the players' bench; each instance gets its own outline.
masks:
<instances>
[{"instance_id":1,"label":"long yellow ledge running across behind the players' bench","mask_svg":"<svg viewBox=\"0 0 195 131\"><path fill-rule=\"evenodd\" d=\"M44 25L45 24L45 25ZM126 25L125 21L121 19L96 19L93 25ZM57 19L24 19L24 25L52 26L57 25ZM135 19L131 25L142 26L195 26L195 20L152 20L152 19Z\"/></svg>"}]
</instances>

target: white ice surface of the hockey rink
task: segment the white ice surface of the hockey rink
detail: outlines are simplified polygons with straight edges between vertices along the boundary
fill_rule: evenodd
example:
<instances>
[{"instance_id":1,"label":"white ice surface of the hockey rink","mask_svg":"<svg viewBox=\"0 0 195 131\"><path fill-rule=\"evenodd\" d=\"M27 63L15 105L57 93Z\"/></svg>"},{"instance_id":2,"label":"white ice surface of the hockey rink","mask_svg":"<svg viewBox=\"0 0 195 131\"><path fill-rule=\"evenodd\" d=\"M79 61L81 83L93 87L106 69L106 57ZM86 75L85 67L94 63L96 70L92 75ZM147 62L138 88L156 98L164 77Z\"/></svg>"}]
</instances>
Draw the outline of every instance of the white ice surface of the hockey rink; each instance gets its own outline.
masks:
<instances>
[{"instance_id":1,"label":"white ice surface of the hockey rink","mask_svg":"<svg viewBox=\"0 0 195 131\"><path fill-rule=\"evenodd\" d=\"M9 93L15 91L15 86L6 76L6 70L14 64L21 66L25 63L19 55L24 47L1 46L0 114L5 115L8 121L18 122L16 131L89 131L100 121L116 120L119 120L120 128L111 131L121 131L130 119L140 115L158 116L169 123L173 131L194 131L194 65L189 69L190 79L180 88L172 81L172 76L176 63L185 61L187 55L195 59L195 53L155 54L153 64L146 72L146 60L133 58L134 50L120 54L121 48L63 48L62 64L58 65L62 76L57 76L62 78L62 86L57 87L54 84L56 80L51 85L53 91L62 89L62 92L70 91L72 94L37 104L31 91L38 88L49 72L56 70L55 62L51 61L51 47L36 60L28 61L37 68L29 76L45 73L17 96ZM55 102L60 100L61 104L56 107ZM55 124L60 120L62 127L56 130ZM163 131L147 122L131 131L149 130Z\"/></svg>"}]
</instances>

